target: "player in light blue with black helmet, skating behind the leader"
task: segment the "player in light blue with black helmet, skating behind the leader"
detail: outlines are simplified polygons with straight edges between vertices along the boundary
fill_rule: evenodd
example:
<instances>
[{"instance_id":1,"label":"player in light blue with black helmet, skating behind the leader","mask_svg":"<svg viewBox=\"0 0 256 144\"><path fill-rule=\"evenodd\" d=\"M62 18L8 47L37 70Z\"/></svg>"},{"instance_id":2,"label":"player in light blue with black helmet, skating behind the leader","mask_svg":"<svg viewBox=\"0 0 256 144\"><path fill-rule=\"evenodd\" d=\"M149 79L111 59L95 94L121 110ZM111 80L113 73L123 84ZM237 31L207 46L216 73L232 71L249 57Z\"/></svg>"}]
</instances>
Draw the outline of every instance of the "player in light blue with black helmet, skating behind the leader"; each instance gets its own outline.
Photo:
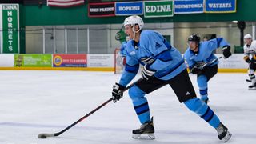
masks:
<instances>
[{"instance_id":1,"label":"player in light blue with black helmet, skating behind the leader","mask_svg":"<svg viewBox=\"0 0 256 144\"><path fill-rule=\"evenodd\" d=\"M229 58L231 55L230 46L224 38L214 38L200 42L198 34L190 35L188 45L184 58L189 66L190 73L197 74L201 100L207 103L209 102L207 82L218 72L218 58L213 54L213 51L222 46L224 57Z\"/></svg>"}]
</instances>

